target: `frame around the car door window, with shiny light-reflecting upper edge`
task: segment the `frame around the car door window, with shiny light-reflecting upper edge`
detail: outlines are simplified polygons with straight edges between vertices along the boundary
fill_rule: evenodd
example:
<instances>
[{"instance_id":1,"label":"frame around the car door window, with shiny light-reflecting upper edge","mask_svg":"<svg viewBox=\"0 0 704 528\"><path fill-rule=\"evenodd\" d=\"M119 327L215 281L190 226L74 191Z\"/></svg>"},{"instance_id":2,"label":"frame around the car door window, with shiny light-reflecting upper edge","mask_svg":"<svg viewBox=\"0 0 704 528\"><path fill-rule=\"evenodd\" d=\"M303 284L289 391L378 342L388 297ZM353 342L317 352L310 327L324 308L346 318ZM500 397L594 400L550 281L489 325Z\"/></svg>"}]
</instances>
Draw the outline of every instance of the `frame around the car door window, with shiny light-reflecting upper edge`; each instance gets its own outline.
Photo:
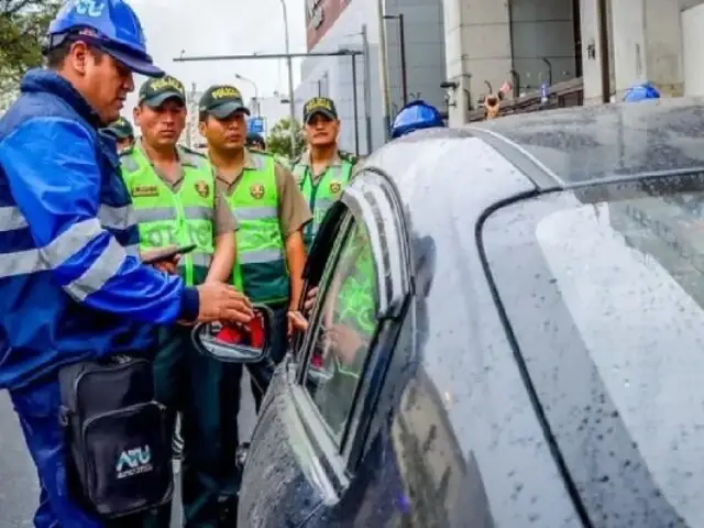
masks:
<instances>
[{"instance_id":1,"label":"frame around the car door window, with shiny light-reflecting upper edge","mask_svg":"<svg viewBox=\"0 0 704 528\"><path fill-rule=\"evenodd\" d=\"M353 222L365 226L378 286L378 322L339 444L330 435L323 417L305 386L305 376L314 350L312 339L318 329L323 301L316 302L311 312L310 329L302 338L300 349L296 351L296 376L292 386L292 395L301 425L321 461L320 470L329 477L328 483L320 482L321 488L327 498L332 501L340 498L350 485L350 480L363 454L381 386L391 363L391 351L413 295L408 231L397 196L393 183L384 173L369 168L363 170L345 189L340 200L331 207L319 231L319 235L326 235L339 229L339 233L344 235L338 237L332 242L317 239L311 251L314 258L304 273L305 289L308 289L309 284L319 283L321 290L324 289L327 294L330 278L338 268L341 250L348 241ZM332 244L332 248L327 250L327 260L334 260L331 266L316 258L317 254L324 251L323 243Z\"/></svg>"}]
</instances>

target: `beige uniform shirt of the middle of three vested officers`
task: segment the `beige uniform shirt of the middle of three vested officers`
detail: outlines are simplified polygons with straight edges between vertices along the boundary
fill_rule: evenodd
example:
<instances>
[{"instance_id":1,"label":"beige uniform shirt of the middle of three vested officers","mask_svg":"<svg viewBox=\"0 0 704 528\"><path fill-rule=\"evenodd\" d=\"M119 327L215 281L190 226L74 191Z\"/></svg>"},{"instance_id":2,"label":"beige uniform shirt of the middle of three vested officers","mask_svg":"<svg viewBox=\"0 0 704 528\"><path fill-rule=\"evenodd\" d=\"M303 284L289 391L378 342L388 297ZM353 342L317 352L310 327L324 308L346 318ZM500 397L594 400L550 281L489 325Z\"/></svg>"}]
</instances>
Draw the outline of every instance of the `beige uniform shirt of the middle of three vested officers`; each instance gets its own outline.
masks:
<instances>
[{"instance_id":1,"label":"beige uniform shirt of the middle of three vested officers","mask_svg":"<svg viewBox=\"0 0 704 528\"><path fill-rule=\"evenodd\" d=\"M306 223L312 219L310 207L304 195L300 193L298 185L288 169L280 164L275 165L276 190L278 193L278 224L284 239L288 238L296 231L300 231ZM244 170L256 170L256 165L251 154L244 151L244 165L234 180L230 182L218 174L216 169L216 184L218 189L224 196L232 196L238 188L238 184L242 180Z\"/></svg>"}]
</instances>

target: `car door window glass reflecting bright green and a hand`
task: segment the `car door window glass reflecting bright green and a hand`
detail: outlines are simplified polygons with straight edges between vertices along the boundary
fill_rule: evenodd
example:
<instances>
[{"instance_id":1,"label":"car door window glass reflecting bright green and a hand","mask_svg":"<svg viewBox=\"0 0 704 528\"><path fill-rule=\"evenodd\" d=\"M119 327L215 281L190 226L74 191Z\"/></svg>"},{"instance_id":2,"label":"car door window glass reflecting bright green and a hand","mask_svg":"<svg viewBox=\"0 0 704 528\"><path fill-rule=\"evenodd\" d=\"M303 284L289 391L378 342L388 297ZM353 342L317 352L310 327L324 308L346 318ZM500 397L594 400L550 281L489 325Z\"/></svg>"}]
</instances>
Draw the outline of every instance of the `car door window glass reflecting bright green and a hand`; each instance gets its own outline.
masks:
<instances>
[{"instance_id":1,"label":"car door window glass reflecting bright green and a hand","mask_svg":"<svg viewBox=\"0 0 704 528\"><path fill-rule=\"evenodd\" d=\"M378 285L369 233L353 222L328 274L305 387L340 443L376 330Z\"/></svg>"}]
</instances>

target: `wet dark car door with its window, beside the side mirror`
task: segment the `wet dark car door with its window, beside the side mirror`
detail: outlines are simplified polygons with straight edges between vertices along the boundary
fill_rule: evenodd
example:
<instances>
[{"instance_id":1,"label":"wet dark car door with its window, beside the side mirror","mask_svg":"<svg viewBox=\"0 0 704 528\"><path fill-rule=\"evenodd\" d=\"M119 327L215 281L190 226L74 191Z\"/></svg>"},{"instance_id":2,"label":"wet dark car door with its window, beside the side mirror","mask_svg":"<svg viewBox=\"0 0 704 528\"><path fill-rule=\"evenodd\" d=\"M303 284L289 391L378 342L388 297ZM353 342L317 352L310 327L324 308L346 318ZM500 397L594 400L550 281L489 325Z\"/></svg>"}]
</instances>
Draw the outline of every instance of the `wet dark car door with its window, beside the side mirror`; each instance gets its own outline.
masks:
<instances>
[{"instance_id":1,"label":"wet dark car door with its window, beside the side mirror","mask_svg":"<svg viewBox=\"0 0 704 528\"><path fill-rule=\"evenodd\" d=\"M395 339L409 290L399 212L375 179L344 193L311 250L305 275L318 299L263 403L239 526L311 526L350 490L387 365L376 351Z\"/></svg>"}]
</instances>

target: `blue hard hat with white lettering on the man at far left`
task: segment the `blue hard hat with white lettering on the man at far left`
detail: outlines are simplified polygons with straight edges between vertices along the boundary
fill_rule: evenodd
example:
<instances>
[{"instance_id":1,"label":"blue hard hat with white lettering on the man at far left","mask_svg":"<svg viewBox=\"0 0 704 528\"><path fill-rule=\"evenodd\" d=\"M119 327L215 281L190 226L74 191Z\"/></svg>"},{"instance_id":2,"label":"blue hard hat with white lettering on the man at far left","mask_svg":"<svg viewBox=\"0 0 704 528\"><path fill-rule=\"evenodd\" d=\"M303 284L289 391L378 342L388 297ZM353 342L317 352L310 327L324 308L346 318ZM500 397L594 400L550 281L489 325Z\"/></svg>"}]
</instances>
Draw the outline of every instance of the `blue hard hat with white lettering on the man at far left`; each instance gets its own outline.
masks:
<instances>
[{"instance_id":1,"label":"blue hard hat with white lettering on the man at far left","mask_svg":"<svg viewBox=\"0 0 704 528\"><path fill-rule=\"evenodd\" d=\"M146 53L140 19L124 0L68 0L48 26L46 50L66 38L86 41L138 74L164 75Z\"/></svg>"}]
</instances>

